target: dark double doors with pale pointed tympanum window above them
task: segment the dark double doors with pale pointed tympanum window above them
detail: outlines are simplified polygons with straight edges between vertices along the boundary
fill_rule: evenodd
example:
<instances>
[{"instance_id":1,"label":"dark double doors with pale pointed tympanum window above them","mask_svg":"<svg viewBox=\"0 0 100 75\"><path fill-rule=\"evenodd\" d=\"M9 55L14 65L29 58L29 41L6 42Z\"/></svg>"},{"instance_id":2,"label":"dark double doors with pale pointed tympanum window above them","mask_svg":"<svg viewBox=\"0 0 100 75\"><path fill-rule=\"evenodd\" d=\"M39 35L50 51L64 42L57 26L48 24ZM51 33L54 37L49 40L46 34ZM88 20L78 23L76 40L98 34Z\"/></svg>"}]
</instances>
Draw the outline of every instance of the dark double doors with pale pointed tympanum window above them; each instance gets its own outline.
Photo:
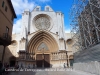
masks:
<instances>
[{"instance_id":1,"label":"dark double doors with pale pointed tympanum window above them","mask_svg":"<svg viewBox=\"0 0 100 75\"><path fill-rule=\"evenodd\" d=\"M46 51L48 51L48 46L42 42L38 46L38 50L41 51L42 54L36 55L36 65L37 67L50 67L50 54L45 54Z\"/></svg>"}]
</instances>

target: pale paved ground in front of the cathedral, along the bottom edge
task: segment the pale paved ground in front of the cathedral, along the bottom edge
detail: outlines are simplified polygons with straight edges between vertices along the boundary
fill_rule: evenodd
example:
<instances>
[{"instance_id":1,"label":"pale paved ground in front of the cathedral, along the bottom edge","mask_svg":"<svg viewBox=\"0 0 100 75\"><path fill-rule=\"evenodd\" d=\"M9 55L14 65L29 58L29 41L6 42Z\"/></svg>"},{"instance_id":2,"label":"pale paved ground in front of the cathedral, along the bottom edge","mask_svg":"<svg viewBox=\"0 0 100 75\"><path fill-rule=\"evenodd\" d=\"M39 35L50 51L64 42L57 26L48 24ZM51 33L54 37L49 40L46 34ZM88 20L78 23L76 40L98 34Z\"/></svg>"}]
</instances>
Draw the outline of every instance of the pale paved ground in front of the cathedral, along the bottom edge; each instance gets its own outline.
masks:
<instances>
[{"instance_id":1,"label":"pale paved ground in front of the cathedral, along the bottom edge","mask_svg":"<svg viewBox=\"0 0 100 75\"><path fill-rule=\"evenodd\" d=\"M35 69L33 71L18 71L18 72L10 72L7 75L95 75L90 74L82 71L75 71L71 69L63 69L63 70L57 70L57 69Z\"/></svg>"}]
</instances>

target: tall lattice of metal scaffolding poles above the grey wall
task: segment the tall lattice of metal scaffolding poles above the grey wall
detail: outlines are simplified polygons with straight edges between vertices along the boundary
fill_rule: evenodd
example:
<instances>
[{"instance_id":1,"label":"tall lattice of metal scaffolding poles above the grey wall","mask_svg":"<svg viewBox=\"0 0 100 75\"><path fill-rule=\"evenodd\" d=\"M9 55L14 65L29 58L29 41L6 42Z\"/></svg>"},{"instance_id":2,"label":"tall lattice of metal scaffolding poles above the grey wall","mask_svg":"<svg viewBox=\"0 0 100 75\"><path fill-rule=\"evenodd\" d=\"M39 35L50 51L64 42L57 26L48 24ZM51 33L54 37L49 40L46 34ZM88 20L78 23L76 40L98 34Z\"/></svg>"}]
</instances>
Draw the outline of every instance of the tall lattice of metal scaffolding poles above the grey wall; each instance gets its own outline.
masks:
<instances>
[{"instance_id":1,"label":"tall lattice of metal scaffolding poles above the grey wall","mask_svg":"<svg viewBox=\"0 0 100 75\"><path fill-rule=\"evenodd\" d=\"M100 0L74 0L70 22L75 51L100 43Z\"/></svg>"}]
</instances>

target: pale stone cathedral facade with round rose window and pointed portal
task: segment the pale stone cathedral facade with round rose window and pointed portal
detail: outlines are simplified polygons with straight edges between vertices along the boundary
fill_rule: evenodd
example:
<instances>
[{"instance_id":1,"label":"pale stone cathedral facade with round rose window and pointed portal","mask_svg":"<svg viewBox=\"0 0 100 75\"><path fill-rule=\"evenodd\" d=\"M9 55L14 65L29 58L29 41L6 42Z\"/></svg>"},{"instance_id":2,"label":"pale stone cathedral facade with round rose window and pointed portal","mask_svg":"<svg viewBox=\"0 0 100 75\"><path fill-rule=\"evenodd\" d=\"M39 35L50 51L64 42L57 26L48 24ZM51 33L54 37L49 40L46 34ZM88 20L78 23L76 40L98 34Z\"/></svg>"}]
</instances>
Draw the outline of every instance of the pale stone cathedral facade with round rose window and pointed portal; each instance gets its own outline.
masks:
<instances>
[{"instance_id":1,"label":"pale stone cathedral facade with round rose window and pointed portal","mask_svg":"<svg viewBox=\"0 0 100 75\"><path fill-rule=\"evenodd\" d=\"M70 34L64 30L64 14L50 6L22 13L21 33L13 35L16 63L23 67L63 67L73 62ZM10 49L13 46L10 46ZM14 57L12 58L14 59ZM13 62L12 62L13 63Z\"/></svg>"}]
</instances>

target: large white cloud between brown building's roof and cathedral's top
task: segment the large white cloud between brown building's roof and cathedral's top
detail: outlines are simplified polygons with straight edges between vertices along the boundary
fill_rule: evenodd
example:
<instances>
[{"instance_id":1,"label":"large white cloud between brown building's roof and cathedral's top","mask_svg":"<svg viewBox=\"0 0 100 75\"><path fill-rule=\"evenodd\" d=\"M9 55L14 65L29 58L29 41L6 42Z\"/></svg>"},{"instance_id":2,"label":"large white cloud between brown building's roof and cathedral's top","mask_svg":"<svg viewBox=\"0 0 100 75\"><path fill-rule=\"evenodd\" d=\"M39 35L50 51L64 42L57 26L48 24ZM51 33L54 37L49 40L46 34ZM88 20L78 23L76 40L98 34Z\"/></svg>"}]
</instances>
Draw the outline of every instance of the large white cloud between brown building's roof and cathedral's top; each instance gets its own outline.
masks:
<instances>
[{"instance_id":1,"label":"large white cloud between brown building's roof and cathedral's top","mask_svg":"<svg viewBox=\"0 0 100 75\"><path fill-rule=\"evenodd\" d=\"M36 6L34 1L31 2L29 2L29 0L11 0L11 1L17 15L21 15L21 13L25 9L32 10Z\"/></svg>"}]
</instances>

